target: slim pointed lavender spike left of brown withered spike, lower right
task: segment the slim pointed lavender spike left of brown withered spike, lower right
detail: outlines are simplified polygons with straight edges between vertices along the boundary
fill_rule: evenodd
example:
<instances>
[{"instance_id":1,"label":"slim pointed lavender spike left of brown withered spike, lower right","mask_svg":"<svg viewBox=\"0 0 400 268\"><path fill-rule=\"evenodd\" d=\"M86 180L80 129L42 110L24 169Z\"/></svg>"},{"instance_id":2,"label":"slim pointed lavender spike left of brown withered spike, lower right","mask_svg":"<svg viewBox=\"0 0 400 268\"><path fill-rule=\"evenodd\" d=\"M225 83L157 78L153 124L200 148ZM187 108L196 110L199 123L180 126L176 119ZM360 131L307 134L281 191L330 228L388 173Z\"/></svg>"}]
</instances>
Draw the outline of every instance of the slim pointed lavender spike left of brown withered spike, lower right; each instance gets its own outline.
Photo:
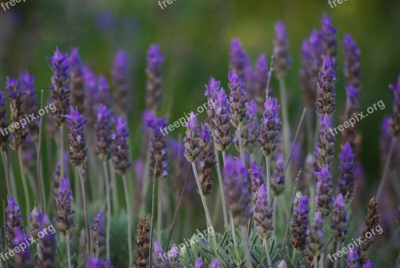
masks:
<instances>
[{"instance_id":1,"label":"slim pointed lavender spike left of brown withered spike, lower right","mask_svg":"<svg viewBox=\"0 0 400 268\"><path fill-rule=\"evenodd\" d=\"M332 228L333 238L336 242L343 242L346 240L348 233L348 216L344 203L343 196L339 193L334 201L333 211L332 211Z\"/></svg>"}]
</instances>

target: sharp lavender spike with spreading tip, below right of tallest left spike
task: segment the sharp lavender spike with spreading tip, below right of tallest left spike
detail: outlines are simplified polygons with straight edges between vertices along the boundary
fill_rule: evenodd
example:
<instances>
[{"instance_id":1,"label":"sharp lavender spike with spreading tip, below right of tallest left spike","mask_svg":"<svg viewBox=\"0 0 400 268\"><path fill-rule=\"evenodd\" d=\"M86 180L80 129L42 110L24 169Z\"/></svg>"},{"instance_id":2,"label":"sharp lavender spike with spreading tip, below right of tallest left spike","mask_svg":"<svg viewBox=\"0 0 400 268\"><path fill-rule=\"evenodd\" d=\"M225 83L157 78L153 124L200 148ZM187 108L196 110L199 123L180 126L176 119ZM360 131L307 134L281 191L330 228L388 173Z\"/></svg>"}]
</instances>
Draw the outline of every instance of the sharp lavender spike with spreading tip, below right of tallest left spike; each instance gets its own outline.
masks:
<instances>
[{"instance_id":1,"label":"sharp lavender spike with spreading tip, below right of tallest left spike","mask_svg":"<svg viewBox=\"0 0 400 268\"><path fill-rule=\"evenodd\" d=\"M86 131L84 130L87 121L83 120L83 116L72 106L70 114L64 117L68 118L66 126L69 128L69 162L74 166L84 166L87 161Z\"/></svg>"}]
</instances>

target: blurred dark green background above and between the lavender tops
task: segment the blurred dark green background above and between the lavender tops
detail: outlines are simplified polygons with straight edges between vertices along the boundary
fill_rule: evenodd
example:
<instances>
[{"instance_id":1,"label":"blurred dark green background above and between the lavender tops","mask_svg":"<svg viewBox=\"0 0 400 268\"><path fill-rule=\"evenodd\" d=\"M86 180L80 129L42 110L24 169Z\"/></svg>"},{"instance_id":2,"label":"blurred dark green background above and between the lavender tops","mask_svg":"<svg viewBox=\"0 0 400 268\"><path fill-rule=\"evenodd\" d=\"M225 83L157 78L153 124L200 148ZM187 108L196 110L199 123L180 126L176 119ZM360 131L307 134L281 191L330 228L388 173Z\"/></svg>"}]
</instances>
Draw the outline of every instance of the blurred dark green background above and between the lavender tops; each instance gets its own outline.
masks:
<instances>
[{"instance_id":1,"label":"blurred dark green background above and between the lavender tops","mask_svg":"<svg viewBox=\"0 0 400 268\"><path fill-rule=\"evenodd\" d=\"M154 0L26 0L0 11L0 89L4 90L6 76L17 77L20 71L29 70L35 75L35 88L44 89L47 98L52 73L45 56L51 56L56 46L62 52L78 47L83 63L107 78L113 56L124 49L132 63L134 112L129 128L137 137L144 110L144 69L150 44L159 43L165 58L163 107L159 115L170 112L169 121L173 122L183 112L204 103L203 85L209 76L221 80L226 87L232 38L240 39L252 64L260 53L267 54L269 59L273 26L281 20L289 34L293 59L286 83L290 124L295 129L303 105L298 86L300 45L313 28L320 29L319 20L324 12L338 28L340 42L334 124L342 123L339 117L345 101L341 45L344 33L353 37L361 51L360 110L380 99L386 105L357 126L362 133L362 165L368 180L376 183L380 122L391 113L392 93L387 85L394 84L400 73L399 1L348 0L331 9L327 0L176 0L161 10ZM271 83L277 89L274 77ZM199 115L200 122L205 115ZM179 128L171 135L177 138L183 131ZM138 152L139 149L132 149L133 156Z\"/></svg>"}]
</instances>

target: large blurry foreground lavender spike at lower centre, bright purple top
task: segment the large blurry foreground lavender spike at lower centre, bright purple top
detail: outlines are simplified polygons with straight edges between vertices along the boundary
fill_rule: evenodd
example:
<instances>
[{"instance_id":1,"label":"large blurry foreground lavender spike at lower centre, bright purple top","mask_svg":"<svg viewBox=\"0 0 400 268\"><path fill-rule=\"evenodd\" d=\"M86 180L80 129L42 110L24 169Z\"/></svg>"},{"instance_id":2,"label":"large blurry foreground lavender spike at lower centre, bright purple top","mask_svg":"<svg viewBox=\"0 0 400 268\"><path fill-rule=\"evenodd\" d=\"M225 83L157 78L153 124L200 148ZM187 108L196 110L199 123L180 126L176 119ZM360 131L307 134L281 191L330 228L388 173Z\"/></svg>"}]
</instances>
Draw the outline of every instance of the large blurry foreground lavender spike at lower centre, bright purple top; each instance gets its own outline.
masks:
<instances>
[{"instance_id":1,"label":"large blurry foreground lavender spike at lower centre, bright purple top","mask_svg":"<svg viewBox=\"0 0 400 268\"><path fill-rule=\"evenodd\" d=\"M232 156L226 157L222 170L223 190L226 205L232 213L233 219L239 226L247 224L250 217L250 198L248 185L248 171L241 160L233 160Z\"/></svg>"}]
</instances>

